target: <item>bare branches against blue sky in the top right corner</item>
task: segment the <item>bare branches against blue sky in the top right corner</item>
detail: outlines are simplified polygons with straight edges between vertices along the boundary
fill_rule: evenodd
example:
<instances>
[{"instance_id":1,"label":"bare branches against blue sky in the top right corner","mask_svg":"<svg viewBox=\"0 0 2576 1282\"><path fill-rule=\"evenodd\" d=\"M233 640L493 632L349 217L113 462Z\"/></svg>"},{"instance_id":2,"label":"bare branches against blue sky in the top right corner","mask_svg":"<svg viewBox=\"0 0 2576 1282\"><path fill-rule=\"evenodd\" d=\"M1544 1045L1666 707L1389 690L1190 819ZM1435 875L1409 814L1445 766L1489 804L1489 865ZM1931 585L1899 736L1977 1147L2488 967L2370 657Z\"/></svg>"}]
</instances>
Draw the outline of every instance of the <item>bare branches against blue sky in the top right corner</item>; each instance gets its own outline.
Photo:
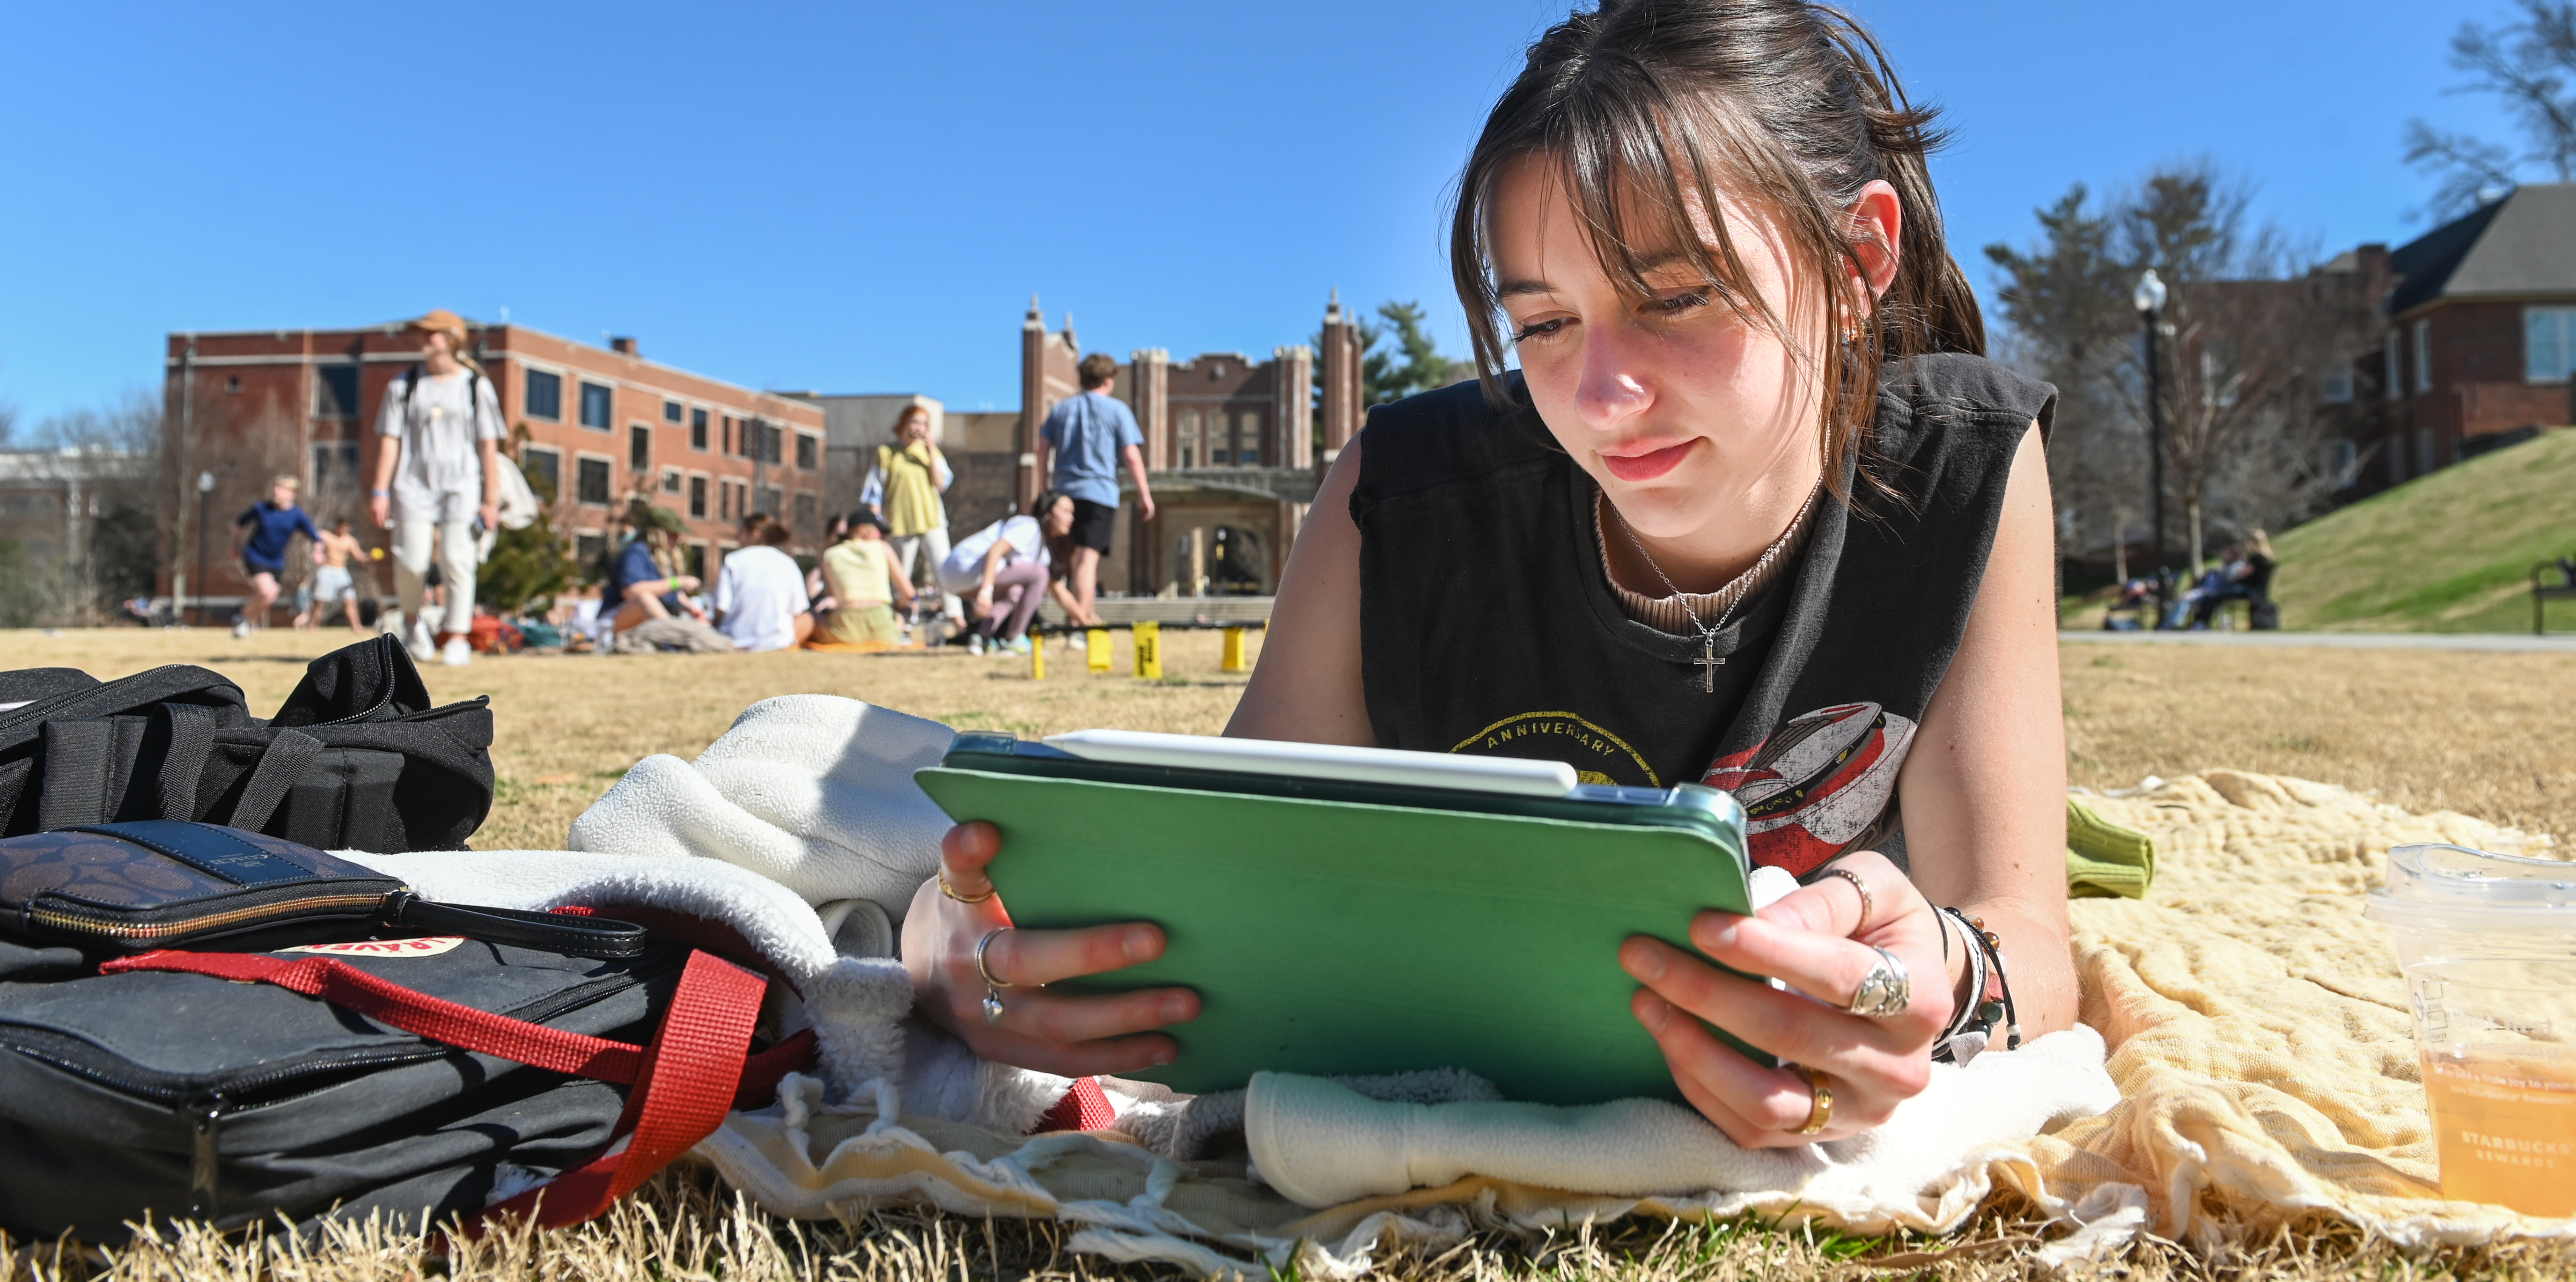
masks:
<instances>
[{"instance_id":1,"label":"bare branches against blue sky in the top right corner","mask_svg":"<svg viewBox=\"0 0 2576 1282\"><path fill-rule=\"evenodd\" d=\"M2576 3L2514 0L2514 8L2519 18L2496 28L2460 23L2450 64L2468 72L2452 93L2496 95L2524 149L2406 121L2406 162L2442 180L2427 203L2434 216L2473 209L2527 170L2576 180Z\"/></svg>"}]
</instances>

